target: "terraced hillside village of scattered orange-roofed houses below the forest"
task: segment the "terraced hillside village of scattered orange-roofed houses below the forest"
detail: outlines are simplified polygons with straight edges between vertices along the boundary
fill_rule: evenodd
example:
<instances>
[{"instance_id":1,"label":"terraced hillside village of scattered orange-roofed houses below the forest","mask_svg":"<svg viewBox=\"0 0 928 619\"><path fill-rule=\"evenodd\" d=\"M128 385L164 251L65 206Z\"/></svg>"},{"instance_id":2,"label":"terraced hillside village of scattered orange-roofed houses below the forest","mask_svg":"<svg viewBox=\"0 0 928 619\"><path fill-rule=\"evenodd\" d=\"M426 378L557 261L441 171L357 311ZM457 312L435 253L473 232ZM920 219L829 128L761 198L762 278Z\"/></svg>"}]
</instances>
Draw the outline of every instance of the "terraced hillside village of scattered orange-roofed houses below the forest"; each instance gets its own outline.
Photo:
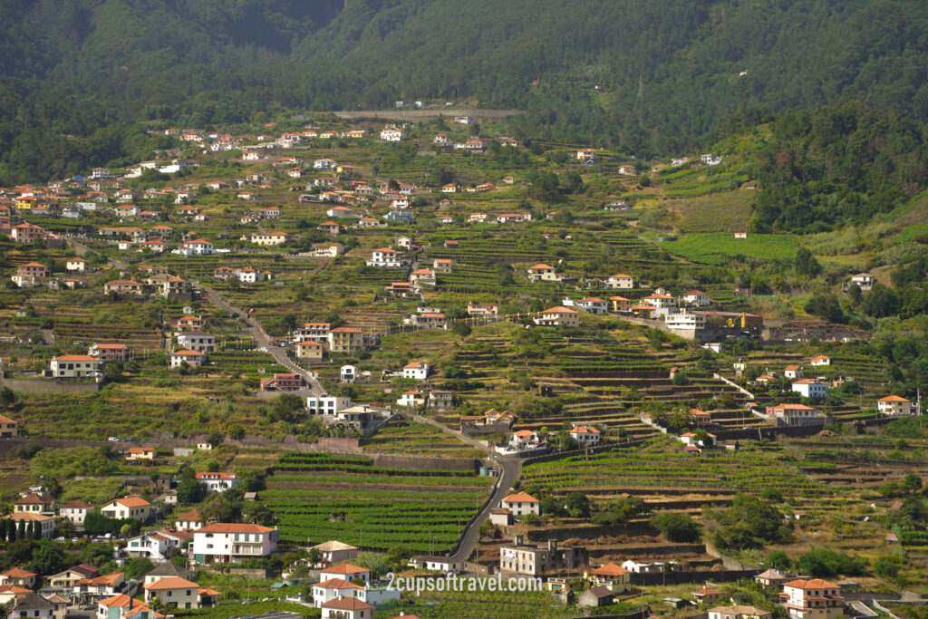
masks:
<instances>
[{"instance_id":1,"label":"terraced hillside village of scattered orange-roofed houses below the forest","mask_svg":"<svg viewBox=\"0 0 928 619\"><path fill-rule=\"evenodd\" d=\"M806 311L808 251L746 231L734 148L645 162L463 114L151 131L149 161L0 188L8 616L928 594L921 393ZM828 261L842 299L891 284L867 266Z\"/></svg>"}]
</instances>

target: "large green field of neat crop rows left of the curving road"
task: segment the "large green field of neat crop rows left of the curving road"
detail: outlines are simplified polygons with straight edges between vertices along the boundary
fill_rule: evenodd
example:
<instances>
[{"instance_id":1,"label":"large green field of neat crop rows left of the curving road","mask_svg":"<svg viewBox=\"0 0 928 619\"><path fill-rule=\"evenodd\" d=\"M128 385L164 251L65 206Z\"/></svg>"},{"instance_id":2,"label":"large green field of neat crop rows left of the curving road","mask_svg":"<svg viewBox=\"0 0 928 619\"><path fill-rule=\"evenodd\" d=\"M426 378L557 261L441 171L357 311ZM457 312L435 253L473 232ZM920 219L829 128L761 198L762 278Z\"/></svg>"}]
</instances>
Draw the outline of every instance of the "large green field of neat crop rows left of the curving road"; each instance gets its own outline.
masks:
<instances>
[{"instance_id":1,"label":"large green field of neat crop rows left of the curving road","mask_svg":"<svg viewBox=\"0 0 928 619\"><path fill-rule=\"evenodd\" d=\"M283 540L438 553L454 546L492 480L469 472L386 469L368 458L286 454L262 493Z\"/></svg>"}]
</instances>

